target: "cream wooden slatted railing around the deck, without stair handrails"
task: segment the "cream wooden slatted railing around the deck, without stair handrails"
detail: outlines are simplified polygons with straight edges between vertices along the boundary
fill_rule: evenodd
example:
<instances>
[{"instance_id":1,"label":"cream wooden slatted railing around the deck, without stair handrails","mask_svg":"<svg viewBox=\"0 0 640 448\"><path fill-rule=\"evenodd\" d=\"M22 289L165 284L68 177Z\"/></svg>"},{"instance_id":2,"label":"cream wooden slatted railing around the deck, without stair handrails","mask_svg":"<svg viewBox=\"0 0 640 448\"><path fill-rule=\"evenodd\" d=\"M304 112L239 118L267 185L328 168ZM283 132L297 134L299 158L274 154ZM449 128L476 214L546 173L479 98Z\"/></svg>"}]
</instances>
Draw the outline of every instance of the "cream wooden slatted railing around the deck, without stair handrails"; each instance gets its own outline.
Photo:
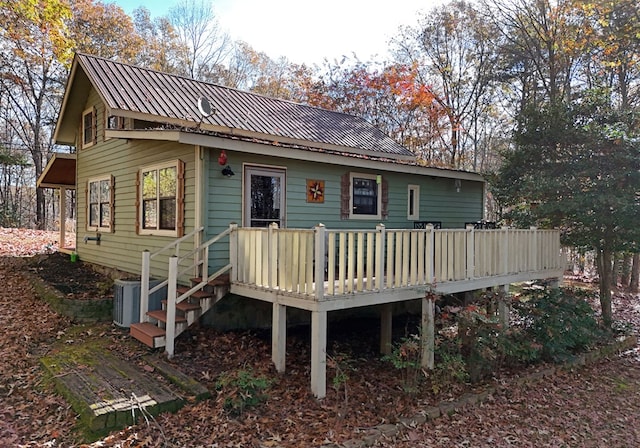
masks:
<instances>
[{"instance_id":1,"label":"cream wooden slatted railing around the deck, without stair handrails","mask_svg":"<svg viewBox=\"0 0 640 448\"><path fill-rule=\"evenodd\" d=\"M538 229L238 228L232 281L309 299L562 269ZM232 258L234 255L232 255Z\"/></svg>"}]
</instances>

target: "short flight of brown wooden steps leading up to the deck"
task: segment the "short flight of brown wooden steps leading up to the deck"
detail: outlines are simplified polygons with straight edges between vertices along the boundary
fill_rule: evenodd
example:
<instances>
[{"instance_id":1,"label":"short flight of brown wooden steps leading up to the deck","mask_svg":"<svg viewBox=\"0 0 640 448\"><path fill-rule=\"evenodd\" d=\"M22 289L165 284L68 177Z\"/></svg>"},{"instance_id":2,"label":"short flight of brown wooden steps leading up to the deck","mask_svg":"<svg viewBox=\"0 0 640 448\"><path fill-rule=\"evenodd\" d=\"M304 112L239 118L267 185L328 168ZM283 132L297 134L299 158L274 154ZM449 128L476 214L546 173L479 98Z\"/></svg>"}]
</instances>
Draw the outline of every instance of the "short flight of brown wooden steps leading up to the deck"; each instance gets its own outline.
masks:
<instances>
[{"instance_id":1,"label":"short flight of brown wooden steps leading up to the deck","mask_svg":"<svg viewBox=\"0 0 640 448\"><path fill-rule=\"evenodd\" d=\"M192 278L192 285L201 283L200 278ZM229 292L229 275L224 274L205 284L202 289L193 292L187 299L176 304L176 337L191 325L195 324L202 315L209 311L222 297ZM188 292L190 287L179 286L177 295ZM147 312L149 322L131 324L129 334L151 348L166 345L167 300L162 301L161 310Z\"/></svg>"}]
</instances>

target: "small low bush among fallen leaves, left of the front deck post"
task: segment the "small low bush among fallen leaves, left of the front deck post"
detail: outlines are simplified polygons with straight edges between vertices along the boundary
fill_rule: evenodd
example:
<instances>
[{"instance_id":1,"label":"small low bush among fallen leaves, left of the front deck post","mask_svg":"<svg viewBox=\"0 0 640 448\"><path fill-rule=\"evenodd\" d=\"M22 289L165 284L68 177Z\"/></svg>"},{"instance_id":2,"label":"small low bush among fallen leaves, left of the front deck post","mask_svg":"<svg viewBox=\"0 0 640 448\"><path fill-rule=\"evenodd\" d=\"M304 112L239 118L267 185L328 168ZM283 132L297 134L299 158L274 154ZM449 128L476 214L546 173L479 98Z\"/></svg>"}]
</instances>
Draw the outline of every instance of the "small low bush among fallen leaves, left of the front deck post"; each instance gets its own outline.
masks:
<instances>
[{"instance_id":1,"label":"small low bush among fallen leaves, left of the front deck post","mask_svg":"<svg viewBox=\"0 0 640 448\"><path fill-rule=\"evenodd\" d=\"M225 410L236 415L264 402L267 399L265 391L270 386L269 378L256 376L251 369L222 373L216 381L216 390Z\"/></svg>"}]
</instances>

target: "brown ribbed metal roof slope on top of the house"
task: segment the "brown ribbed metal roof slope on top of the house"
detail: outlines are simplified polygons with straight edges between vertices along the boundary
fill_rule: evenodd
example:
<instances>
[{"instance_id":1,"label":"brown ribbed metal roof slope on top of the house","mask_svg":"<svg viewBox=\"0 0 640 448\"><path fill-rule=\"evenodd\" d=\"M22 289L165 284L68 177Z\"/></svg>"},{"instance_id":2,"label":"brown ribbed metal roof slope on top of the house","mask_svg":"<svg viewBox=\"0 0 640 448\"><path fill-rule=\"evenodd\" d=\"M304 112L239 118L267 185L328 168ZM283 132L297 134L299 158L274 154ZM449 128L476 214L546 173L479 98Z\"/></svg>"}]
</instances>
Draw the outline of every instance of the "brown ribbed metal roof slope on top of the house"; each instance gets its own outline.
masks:
<instances>
[{"instance_id":1,"label":"brown ribbed metal roof slope on top of the house","mask_svg":"<svg viewBox=\"0 0 640 448\"><path fill-rule=\"evenodd\" d=\"M348 114L257 95L108 59L77 54L82 67L115 115L141 114L158 123L194 123L279 138L335 145L391 158L413 153L366 120ZM198 98L215 113L202 118ZM144 118L142 118L142 115Z\"/></svg>"}]
</instances>

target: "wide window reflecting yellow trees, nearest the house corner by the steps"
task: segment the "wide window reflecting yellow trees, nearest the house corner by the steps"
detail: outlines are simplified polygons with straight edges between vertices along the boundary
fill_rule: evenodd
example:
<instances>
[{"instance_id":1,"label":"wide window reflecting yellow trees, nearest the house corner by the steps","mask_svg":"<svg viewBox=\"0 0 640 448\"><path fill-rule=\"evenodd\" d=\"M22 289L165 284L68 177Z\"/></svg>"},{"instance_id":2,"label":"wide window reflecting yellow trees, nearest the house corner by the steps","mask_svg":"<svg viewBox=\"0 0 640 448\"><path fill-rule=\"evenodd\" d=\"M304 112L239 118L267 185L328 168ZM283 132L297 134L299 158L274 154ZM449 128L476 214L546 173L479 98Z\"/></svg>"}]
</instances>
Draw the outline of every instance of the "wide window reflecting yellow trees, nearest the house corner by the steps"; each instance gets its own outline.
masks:
<instances>
[{"instance_id":1,"label":"wide window reflecting yellow trees, nearest the house corner by the steps","mask_svg":"<svg viewBox=\"0 0 640 448\"><path fill-rule=\"evenodd\" d=\"M181 161L142 168L138 189L138 233L180 236L183 231L184 164Z\"/></svg>"}]
</instances>

